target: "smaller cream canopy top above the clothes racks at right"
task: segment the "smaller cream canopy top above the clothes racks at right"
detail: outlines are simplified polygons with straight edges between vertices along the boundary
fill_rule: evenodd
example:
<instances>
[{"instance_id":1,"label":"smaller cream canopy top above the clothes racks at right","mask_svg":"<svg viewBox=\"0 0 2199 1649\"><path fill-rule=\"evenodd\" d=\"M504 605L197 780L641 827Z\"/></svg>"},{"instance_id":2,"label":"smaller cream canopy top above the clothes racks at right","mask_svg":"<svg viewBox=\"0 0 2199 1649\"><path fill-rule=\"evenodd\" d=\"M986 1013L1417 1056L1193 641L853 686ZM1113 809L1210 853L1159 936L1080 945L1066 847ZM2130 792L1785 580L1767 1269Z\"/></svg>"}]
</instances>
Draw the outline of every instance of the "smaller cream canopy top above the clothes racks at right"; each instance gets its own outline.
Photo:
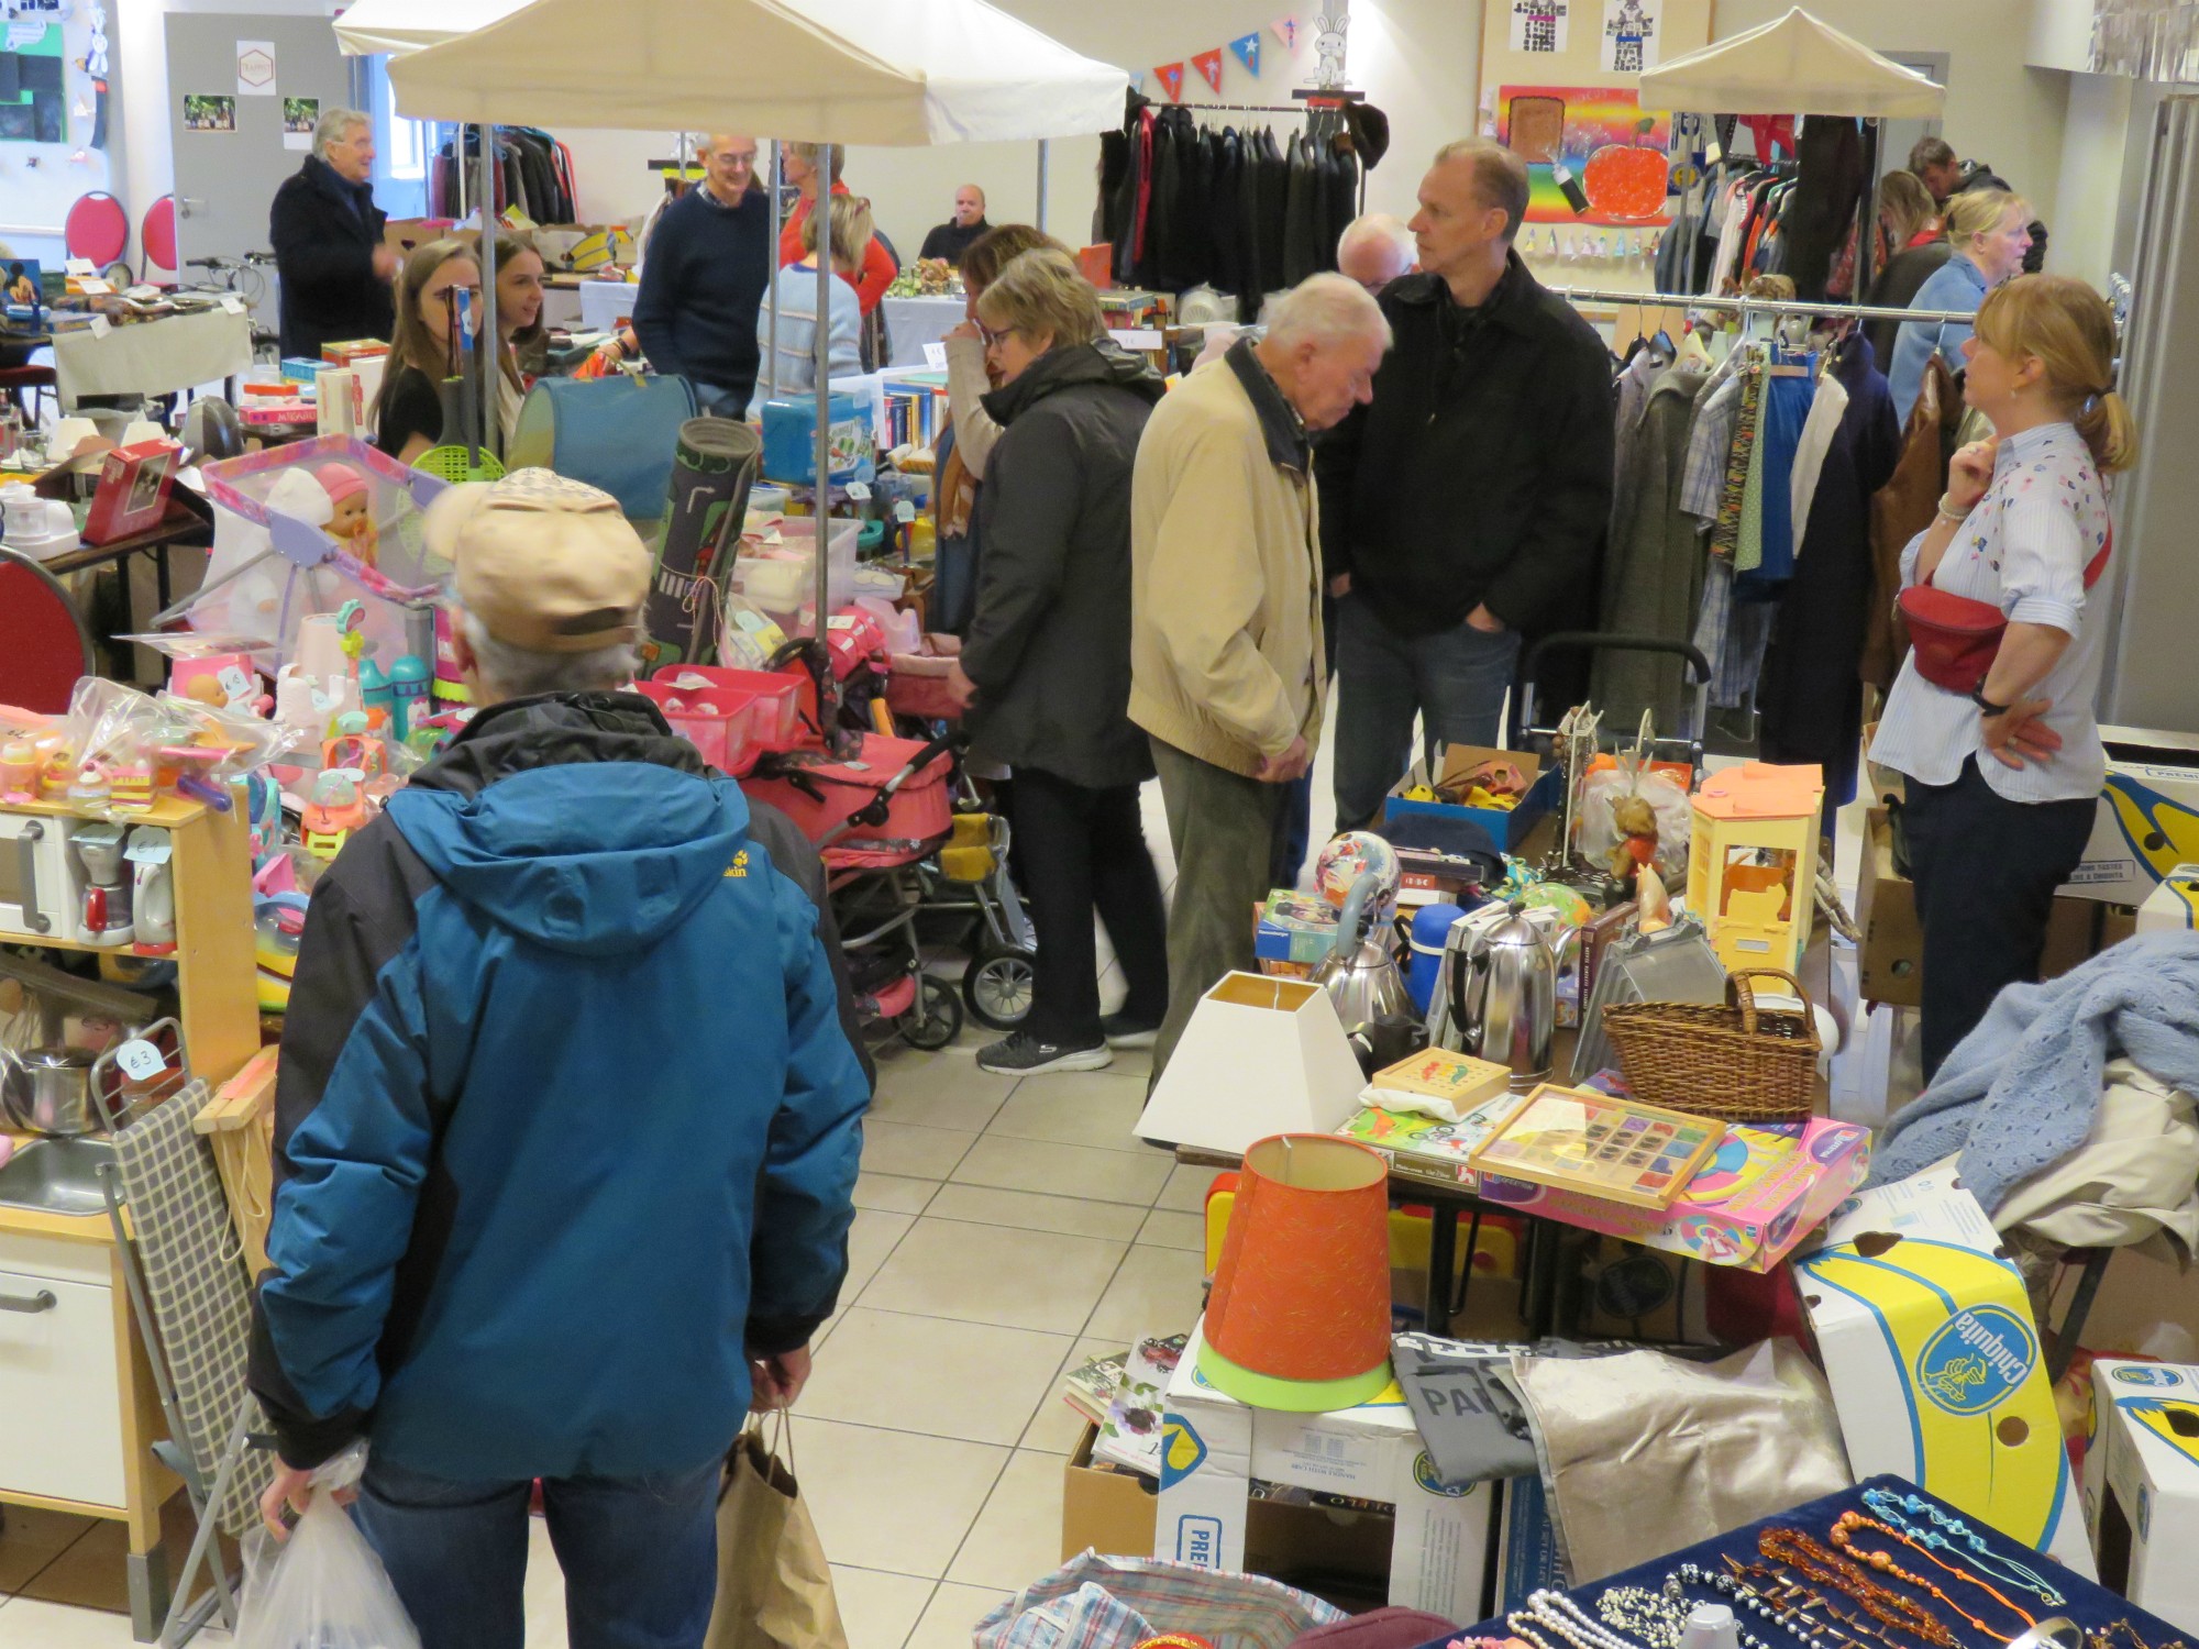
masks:
<instances>
[{"instance_id":1,"label":"smaller cream canopy top above the clothes racks at right","mask_svg":"<svg viewBox=\"0 0 2199 1649\"><path fill-rule=\"evenodd\" d=\"M1645 68L1640 103L1711 114L1902 121L1937 114L1946 88L1794 7L1777 22Z\"/></svg>"}]
</instances>

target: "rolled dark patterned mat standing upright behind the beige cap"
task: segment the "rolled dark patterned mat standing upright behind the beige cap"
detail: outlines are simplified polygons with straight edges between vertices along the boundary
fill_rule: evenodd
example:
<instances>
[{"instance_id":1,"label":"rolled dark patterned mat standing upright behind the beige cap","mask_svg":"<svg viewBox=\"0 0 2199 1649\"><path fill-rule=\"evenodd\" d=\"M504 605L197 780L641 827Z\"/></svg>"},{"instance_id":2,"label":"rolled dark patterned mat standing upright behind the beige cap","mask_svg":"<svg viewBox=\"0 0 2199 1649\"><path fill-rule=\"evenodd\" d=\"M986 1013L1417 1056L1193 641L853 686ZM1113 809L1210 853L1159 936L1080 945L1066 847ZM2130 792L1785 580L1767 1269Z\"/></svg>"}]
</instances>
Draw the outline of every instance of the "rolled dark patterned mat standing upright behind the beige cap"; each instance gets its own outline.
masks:
<instances>
[{"instance_id":1,"label":"rolled dark patterned mat standing upright behind the beige cap","mask_svg":"<svg viewBox=\"0 0 2199 1649\"><path fill-rule=\"evenodd\" d=\"M642 609L642 673L717 657L719 596L741 547L761 440L730 418L688 418L673 449L671 506Z\"/></svg>"}]
</instances>

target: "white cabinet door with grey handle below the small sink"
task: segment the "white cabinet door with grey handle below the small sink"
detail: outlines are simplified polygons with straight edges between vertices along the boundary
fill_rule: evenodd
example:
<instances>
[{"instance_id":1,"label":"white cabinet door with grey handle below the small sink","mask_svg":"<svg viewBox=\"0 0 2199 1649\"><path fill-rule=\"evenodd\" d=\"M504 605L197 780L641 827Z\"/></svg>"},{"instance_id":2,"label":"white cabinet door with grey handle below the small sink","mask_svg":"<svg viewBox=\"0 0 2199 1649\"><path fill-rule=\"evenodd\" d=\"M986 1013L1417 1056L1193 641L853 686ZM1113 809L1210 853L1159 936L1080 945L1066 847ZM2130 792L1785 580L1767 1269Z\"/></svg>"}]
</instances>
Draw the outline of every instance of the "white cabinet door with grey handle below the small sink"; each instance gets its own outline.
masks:
<instances>
[{"instance_id":1,"label":"white cabinet door with grey handle below the small sink","mask_svg":"<svg viewBox=\"0 0 2199 1649\"><path fill-rule=\"evenodd\" d=\"M128 1504L108 1249L0 1233L0 1491Z\"/></svg>"}]
</instances>

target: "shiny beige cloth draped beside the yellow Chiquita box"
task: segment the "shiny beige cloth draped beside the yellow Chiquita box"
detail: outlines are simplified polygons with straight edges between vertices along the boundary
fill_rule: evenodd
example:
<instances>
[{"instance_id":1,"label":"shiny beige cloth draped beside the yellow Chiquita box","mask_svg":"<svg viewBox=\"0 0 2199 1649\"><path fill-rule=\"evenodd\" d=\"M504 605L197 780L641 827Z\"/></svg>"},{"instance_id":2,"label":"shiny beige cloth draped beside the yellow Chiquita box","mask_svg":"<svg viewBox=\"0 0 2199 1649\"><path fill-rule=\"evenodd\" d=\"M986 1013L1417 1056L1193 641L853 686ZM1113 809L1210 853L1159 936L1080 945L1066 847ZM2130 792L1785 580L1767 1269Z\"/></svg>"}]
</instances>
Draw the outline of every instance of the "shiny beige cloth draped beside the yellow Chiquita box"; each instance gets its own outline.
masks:
<instances>
[{"instance_id":1,"label":"shiny beige cloth draped beside the yellow Chiquita box","mask_svg":"<svg viewBox=\"0 0 2199 1649\"><path fill-rule=\"evenodd\" d=\"M1572 1585L1849 1484L1832 1390L1790 1339L1715 1363L1522 1357L1513 1379Z\"/></svg>"}]
</instances>

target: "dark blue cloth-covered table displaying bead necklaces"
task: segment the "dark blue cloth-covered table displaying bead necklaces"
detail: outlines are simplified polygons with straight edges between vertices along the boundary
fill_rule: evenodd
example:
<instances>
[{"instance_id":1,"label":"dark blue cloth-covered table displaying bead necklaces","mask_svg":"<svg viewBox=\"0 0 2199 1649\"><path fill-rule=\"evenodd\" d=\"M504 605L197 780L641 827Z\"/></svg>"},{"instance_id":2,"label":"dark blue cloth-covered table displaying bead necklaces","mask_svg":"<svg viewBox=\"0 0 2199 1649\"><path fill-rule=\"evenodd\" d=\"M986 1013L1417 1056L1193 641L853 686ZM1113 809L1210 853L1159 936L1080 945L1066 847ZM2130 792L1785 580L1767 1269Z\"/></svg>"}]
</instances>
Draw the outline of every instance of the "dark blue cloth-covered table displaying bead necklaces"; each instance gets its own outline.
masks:
<instances>
[{"instance_id":1,"label":"dark blue cloth-covered table displaying bead necklaces","mask_svg":"<svg viewBox=\"0 0 2199 1649\"><path fill-rule=\"evenodd\" d=\"M2082 1649L2190 1649L2166 1620L1891 1475L1572 1592L1535 1592L1427 1649L1678 1649L1698 1603L1733 1609L1742 1649L2003 1649L2054 1616L2076 1623Z\"/></svg>"}]
</instances>

